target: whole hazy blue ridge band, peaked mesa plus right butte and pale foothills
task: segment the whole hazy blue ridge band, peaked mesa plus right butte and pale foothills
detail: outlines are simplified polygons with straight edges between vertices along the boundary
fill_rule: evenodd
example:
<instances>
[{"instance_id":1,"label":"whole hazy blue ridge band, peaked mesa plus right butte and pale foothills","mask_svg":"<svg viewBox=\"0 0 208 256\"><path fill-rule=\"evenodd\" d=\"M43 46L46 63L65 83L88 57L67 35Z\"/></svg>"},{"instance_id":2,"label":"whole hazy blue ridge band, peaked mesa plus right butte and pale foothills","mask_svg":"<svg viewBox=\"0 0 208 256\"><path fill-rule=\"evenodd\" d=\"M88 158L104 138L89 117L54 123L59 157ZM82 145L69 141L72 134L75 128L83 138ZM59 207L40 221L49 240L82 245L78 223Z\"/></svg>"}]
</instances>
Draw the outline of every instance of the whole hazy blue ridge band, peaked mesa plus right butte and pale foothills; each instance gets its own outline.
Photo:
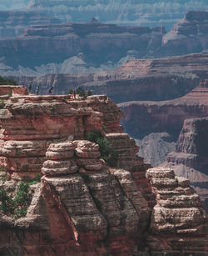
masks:
<instances>
[{"instance_id":1,"label":"whole hazy blue ridge band, peaked mesa plus right butte and pale foothills","mask_svg":"<svg viewBox=\"0 0 208 256\"><path fill-rule=\"evenodd\" d=\"M207 13L186 13L169 33L164 26L121 26L101 23L96 18L87 23L54 23L57 17L52 19L50 13L42 19L42 23L51 20L50 24L38 24L34 13L36 25L25 28L15 38L1 38L0 73L37 77L99 73L118 68L130 59L206 53ZM8 23L12 23L9 18Z\"/></svg>"}]
</instances>

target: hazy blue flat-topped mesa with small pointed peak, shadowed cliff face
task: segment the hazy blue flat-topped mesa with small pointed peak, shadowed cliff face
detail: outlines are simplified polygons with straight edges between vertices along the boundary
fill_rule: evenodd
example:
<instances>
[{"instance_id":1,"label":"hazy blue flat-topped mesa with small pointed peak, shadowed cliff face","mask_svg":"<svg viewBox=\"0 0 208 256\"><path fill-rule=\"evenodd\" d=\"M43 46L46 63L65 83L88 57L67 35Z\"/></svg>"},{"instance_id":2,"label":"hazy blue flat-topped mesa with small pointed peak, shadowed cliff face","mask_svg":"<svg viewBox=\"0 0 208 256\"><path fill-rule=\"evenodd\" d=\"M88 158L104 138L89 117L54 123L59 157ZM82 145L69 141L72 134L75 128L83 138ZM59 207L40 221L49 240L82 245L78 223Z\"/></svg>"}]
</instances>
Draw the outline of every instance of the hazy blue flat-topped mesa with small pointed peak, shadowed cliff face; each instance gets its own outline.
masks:
<instances>
[{"instance_id":1,"label":"hazy blue flat-topped mesa with small pointed peak, shadowed cliff face","mask_svg":"<svg viewBox=\"0 0 208 256\"><path fill-rule=\"evenodd\" d=\"M138 57L145 56L151 48L161 45L163 33L162 29L97 21L33 25L17 38L1 39L0 56L8 67L34 70L47 63L62 63L82 53L87 63L99 67L109 61L118 62L129 50L136 50Z\"/></svg>"}]
</instances>

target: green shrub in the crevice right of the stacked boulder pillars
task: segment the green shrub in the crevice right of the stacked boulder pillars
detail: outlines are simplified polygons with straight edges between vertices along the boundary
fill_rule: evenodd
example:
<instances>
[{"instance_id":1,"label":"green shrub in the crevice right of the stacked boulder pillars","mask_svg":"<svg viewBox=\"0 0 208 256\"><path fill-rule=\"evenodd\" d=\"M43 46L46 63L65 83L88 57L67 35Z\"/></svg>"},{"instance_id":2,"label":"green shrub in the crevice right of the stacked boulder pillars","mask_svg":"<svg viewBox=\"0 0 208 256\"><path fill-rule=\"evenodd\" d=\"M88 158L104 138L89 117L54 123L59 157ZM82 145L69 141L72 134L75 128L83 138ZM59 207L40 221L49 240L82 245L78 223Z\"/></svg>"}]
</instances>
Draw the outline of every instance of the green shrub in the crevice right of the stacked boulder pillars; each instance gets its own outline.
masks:
<instances>
[{"instance_id":1,"label":"green shrub in the crevice right of the stacked boulder pillars","mask_svg":"<svg viewBox=\"0 0 208 256\"><path fill-rule=\"evenodd\" d=\"M102 135L101 131L94 130L87 133L87 140L99 145L100 158L104 159L111 167L116 167L118 153L112 148L111 143Z\"/></svg>"}]
</instances>

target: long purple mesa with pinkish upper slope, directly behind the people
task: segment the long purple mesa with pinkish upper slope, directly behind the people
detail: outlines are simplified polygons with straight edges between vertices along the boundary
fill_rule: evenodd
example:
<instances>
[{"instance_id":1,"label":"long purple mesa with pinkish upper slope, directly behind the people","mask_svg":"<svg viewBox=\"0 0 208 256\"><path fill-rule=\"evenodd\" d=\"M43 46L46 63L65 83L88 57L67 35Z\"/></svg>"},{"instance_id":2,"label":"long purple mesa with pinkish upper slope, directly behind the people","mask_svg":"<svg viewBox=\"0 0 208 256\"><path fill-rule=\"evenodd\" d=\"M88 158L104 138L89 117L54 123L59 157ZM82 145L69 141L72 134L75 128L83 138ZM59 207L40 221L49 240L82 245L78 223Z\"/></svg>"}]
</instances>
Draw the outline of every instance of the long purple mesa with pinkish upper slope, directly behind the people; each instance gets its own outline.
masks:
<instances>
[{"instance_id":1,"label":"long purple mesa with pinkish upper slope, directly behind the people","mask_svg":"<svg viewBox=\"0 0 208 256\"><path fill-rule=\"evenodd\" d=\"M93 94L106 94L116 103L178 98L207 78L207 54L130 60L121 68L102 73L48 74L42 77L12 77L19 84L32 84L35 93L68 93L81 86ZM125 92L125 93L123 93Z\"/></svg>"}]
</instances>

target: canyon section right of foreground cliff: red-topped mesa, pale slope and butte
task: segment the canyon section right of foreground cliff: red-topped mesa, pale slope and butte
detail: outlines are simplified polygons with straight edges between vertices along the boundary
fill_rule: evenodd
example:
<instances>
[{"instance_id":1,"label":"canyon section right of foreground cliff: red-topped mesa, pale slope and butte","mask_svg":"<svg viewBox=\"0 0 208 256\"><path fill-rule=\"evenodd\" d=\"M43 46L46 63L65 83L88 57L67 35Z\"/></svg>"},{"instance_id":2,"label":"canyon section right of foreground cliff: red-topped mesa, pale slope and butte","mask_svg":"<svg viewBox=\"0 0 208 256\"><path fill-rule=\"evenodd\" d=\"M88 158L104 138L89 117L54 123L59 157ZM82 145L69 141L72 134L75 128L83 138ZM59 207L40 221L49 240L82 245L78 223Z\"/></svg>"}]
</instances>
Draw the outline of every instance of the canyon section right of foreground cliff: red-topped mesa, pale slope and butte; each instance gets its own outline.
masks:
<instances>
[{"instance_id":1,"label":"canyon section right of foreground cliff: red-topped mesa, pale slope and butte","mask_svg":"<svg viewBox=\"0 0 208 256\"><path fill-rule=\"evenodd\" d=\"M140 138L137 144L146 163L170 167L177 175L189 178L205 203L207 93L208 80L204 79L181 98L118 104L125 113L121 123L127 133Z\"/></svg>"}]
</instances>

